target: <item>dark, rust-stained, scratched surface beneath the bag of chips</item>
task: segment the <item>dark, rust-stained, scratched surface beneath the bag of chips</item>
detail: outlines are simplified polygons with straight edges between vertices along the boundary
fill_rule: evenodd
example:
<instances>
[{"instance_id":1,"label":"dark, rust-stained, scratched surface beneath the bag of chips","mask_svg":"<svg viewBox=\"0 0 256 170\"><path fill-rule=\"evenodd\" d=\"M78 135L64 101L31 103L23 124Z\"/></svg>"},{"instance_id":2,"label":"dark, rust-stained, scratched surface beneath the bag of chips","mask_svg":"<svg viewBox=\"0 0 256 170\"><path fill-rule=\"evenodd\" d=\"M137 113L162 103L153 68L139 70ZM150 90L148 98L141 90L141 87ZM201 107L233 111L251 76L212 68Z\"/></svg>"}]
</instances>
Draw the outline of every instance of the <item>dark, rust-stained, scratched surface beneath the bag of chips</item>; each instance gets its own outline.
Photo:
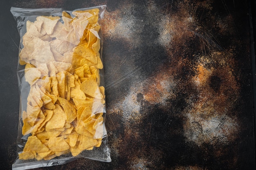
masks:
<instances>
[{"instance_id":1,"label":"dark, rust-stained, scratched surface beneath the bag of chips","mask_svg":"<svg viewBox=\"0 0 256 170\"><path fill-rule=\"evenodd\" d=\"M1 140L8 138L1 141L0 161L5 169L16 159L19 109L19 36L9 7L72 10L99 4L107 5L102 31L112 162L78 159L38 170L255 168L247 1L0 3L1 24L7 23L1 26L7 31L1 35L6 64L0 66Z\"/></svg>"}]
</instances>

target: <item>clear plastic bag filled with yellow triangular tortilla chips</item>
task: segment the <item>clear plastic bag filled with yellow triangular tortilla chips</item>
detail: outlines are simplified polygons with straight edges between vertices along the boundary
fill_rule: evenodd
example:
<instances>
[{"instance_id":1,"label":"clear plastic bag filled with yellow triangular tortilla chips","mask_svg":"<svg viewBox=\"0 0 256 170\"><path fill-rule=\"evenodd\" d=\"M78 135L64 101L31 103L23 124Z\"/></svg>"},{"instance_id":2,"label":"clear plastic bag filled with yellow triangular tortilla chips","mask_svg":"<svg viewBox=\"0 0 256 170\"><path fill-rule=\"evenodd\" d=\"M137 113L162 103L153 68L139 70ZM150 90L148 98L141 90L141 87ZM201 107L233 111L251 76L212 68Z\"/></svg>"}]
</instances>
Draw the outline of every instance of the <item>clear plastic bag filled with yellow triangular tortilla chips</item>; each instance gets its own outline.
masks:
<instances>
[{"instance_id":1,"label":"clear plastic bag filled with yellow triangular tortilla chips","mask_svg":"<svg viewBox=\"0 0 256 170\"><path fill-rule=\"evenodd\" d=\"M106 5L11 7L20 33L20 113L13 170L80 157L110 162L101 25Z\"/></svg>"}]
</instances>

